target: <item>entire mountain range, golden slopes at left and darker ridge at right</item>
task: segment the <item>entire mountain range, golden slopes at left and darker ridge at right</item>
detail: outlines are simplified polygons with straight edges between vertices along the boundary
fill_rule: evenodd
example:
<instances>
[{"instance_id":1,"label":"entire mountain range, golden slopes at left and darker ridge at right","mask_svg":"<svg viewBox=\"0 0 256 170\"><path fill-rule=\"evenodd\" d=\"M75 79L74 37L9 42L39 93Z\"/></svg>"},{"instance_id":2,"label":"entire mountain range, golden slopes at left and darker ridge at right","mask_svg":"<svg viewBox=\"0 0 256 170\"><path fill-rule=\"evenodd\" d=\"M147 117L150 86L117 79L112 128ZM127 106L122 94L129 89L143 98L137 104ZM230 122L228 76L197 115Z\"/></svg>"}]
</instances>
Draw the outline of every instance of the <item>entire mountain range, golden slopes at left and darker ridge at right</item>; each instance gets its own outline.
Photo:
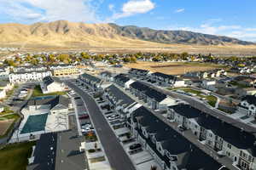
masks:
<instances>
[{"instance_id":1,"label":"entire mountain range, golden slopes at left and darker ridge at right","mask_svg":"<svg viewBox=\"0 0 256 170\"><path fill-rule=\"evenodd\" d=\"M255 45L232 37L137 26L85 24L67 20L32 25L0 24L0 45L55 47L153 47L170 44Z\"/></svg>"}]
</instances>

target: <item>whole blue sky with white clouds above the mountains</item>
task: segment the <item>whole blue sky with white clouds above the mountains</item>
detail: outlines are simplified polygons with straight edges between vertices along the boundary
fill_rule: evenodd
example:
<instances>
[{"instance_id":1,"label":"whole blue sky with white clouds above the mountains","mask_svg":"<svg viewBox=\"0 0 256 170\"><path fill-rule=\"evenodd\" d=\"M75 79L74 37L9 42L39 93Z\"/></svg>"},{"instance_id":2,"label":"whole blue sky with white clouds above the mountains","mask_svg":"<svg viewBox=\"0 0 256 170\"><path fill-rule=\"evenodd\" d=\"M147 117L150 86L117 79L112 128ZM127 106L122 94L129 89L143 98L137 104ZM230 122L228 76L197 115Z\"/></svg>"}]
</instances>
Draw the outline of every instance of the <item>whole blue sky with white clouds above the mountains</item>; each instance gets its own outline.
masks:
<instances>
[{"instance_id":1,"label":"whole blue sky with white clouds above the mountains","mask_svg":"<svg viewBox=\"0 0 256 170\"><path fill-rule=\"evenodd\" d=\"M0 23L112 22L256 42L255 7L255 0L0 0Z\"/></svg>"}]
</instances>

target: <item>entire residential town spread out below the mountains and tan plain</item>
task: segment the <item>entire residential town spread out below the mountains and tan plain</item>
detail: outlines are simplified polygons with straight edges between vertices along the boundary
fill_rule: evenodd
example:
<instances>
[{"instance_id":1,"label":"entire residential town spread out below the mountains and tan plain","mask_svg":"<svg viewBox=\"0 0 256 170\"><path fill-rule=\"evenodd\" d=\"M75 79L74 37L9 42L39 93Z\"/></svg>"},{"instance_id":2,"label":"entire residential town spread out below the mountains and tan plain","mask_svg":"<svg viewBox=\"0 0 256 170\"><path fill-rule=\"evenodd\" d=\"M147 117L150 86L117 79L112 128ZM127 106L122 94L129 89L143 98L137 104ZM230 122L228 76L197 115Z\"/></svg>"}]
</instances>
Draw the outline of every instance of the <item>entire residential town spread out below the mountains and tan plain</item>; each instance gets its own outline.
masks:
<instances>
[{"instance_id":1,"label":"entire residential town spread out below the mountains and tan plain","mask_svg":"<svg viewBox=\"0 0 256 170\"><path fill-rule=\"evenodd\" d=\"M255 56L6 54L0 100L0 169L256 170Z\"/></svg>"}]
</instances>

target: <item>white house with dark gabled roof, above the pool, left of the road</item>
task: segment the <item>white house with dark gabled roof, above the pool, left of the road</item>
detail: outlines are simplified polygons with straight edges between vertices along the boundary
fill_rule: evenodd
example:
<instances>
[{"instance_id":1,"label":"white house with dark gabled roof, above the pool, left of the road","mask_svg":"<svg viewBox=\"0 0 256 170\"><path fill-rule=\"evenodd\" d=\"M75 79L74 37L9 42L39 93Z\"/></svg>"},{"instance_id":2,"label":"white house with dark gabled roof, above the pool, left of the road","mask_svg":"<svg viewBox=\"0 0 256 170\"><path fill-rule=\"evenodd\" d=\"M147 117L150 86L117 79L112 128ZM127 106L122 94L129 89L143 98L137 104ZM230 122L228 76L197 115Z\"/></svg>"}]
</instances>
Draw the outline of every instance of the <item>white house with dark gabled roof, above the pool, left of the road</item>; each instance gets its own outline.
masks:
<instances>
[{"instance_id":1,"label":"white house with dark gabled roof, above the pool, left of the road","mask_svg":"<svg viewBox=\"0 0 256 170\"><path fill-rule=\"evenodd\" d=\"M40 83L40 86L43 94L61 92L66 89L66 85L54 77L44 77L43 82Z\"/></svg>"}]
</instances>

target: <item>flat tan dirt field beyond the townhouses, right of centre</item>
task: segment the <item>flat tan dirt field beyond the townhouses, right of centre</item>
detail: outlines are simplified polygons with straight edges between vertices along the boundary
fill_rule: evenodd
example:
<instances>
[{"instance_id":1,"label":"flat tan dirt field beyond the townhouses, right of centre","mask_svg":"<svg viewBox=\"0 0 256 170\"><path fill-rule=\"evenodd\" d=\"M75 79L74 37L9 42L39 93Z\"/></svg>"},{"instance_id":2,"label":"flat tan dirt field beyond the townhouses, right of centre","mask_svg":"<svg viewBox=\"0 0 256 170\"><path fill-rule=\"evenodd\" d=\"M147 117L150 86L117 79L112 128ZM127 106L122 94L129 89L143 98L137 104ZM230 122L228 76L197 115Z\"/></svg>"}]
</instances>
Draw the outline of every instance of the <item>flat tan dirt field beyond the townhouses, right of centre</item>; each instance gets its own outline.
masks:
<instances>
[{"instance_id":1,"label":"flat tan dirt field beyond the townhouses, right of centre","mask_svg":"<svg viewBox=\"0 0 256 170\"><path fill-rule=\"evenodd\" d=\"M156 63L156 62L143 62L138 61L134 64L125 65L129 68L143 69L153 72L162 72L169 75L182 75L185 72L190 71L208 71L216 68L221 68L221 65L211 65L211 64L199 64L199 63L183 63L183 62L173 62L173 63Z\"/></svg>"}]
</instances>

